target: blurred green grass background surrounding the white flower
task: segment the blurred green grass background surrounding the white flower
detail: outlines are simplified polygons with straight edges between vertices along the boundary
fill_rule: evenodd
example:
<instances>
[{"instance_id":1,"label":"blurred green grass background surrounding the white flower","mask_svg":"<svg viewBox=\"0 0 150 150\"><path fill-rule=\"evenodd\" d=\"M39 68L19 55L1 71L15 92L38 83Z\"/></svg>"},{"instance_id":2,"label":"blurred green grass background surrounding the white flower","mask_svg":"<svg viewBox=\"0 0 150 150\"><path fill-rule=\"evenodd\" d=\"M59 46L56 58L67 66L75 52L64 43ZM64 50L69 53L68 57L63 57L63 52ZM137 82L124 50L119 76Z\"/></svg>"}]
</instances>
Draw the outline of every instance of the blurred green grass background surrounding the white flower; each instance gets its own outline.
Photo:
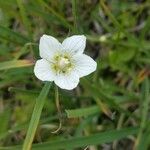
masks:
<instances>
[{"instance_id":1,"label":"blurred green grass background surrounding the white flower","mask_svg":"<svg viewBox=\"0 0 150 150\"><path fill-rule=\"evenodd\" d=\"M149 0L0 0L0 149L24 142L43 87L33 65L44 33L86 35L85 53L98 67L74 91L59 89L57 134L51 86L33 149L150 149Z\"/></svg>"}]
</instances>

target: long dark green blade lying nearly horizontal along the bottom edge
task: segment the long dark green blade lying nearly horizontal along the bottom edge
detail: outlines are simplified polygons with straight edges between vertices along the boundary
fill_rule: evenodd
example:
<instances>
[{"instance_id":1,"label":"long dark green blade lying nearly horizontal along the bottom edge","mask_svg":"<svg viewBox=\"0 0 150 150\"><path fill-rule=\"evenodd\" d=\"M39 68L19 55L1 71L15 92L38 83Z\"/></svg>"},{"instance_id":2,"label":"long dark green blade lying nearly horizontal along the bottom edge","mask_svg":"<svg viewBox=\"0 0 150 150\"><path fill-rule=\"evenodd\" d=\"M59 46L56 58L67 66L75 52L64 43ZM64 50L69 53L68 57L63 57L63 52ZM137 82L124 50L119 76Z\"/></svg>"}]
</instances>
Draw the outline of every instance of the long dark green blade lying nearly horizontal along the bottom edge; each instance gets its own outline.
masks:
<instances>
[{"instance_id":1,"label":"long dark green blade lying nearly horizontal along the bottom edge","mask_svg":"<svg viewBox=\"0 0 150 150\"><path fill-rule=\"evenodd\" d=\"M138 128L124 128L121 130L111 130L96 133L85 137L74 137L61 141L46 142L41 144L33 144L32 150L60 150L86 147L90 145L100 145L104 143L110 143L115 140L120 140L129 135L136 134ZM5 147L0 150L20 150L21 146ZM27 149L26 149L27 150Z\"/></svg>"}]
</instances>

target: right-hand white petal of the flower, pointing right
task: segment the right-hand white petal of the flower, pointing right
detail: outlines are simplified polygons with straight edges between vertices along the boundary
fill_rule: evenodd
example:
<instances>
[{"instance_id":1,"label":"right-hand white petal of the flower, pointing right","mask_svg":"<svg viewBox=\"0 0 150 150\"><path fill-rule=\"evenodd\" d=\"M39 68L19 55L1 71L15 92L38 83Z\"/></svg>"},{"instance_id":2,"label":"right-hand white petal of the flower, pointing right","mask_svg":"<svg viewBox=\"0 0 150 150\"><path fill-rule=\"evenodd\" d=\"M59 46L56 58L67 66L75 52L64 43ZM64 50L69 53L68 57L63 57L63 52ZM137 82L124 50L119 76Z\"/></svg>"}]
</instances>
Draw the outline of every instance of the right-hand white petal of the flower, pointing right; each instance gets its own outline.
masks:
<instances>
[{"instance_id":1,"label":"right-hand white petal of the flower, pointing right","mask_svg":"<svg viewBox=\"0 0 150 150\"><path fill-rule=\"evenodd\" d=\"M86 76L96 70L97 63L85 54L76 55L74 61L75 70L79 77Z\"/></svg>"}]
</instances>

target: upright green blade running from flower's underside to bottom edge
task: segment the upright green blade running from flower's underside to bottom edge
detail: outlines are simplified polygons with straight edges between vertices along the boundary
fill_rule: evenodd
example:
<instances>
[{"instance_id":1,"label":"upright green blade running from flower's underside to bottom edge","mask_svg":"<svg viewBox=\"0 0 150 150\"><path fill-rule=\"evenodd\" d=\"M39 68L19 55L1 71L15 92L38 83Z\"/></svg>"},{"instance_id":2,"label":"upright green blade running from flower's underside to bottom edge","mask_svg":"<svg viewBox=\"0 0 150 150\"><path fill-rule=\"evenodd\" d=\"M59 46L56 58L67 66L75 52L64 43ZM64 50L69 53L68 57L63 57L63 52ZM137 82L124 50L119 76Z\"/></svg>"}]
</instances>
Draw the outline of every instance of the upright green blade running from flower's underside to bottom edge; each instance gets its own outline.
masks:
<instances>
[{"instance_id":1,"label":"upright green blade running from flower's underside to bottom edge","mask_svg":"<svg viewBox=\"0 0 150 150\"><path fill-rule=\"evenodd\" d=\"M44 106L45 99L46 99L46 96L48 95L50 87L51 87L51 83L47 82L44 85L40 95L36 99L35 107L32 113L28 131L27 131L27 135L23 144L23 150L30 150L32 146L35 132L36 132L39 120L40 120L42 108Z\"/></svg>"}]
</instances>

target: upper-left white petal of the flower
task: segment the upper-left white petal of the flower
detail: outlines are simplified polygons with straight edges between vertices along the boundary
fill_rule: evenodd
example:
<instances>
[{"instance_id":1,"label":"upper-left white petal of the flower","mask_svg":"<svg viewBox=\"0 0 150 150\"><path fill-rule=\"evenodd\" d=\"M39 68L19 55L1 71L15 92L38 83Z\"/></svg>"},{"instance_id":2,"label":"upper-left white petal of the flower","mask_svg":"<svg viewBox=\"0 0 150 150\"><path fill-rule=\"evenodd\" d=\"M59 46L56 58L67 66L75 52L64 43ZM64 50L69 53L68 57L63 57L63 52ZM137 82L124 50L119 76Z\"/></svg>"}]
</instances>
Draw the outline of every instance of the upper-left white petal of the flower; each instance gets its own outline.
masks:
<instances>
[{"instance_id":1,"label":"upper-left white petal of the flower","mask_svg":"<svg viewBox=\"0 0 150 150\"><path fill-rule=\"evenodd\" d=\"M40 38L40 56L46 60L51 60L54 54L61 49L61 43L57 39L49 35L43 35Z\"/></svg>"}]
</instances>

